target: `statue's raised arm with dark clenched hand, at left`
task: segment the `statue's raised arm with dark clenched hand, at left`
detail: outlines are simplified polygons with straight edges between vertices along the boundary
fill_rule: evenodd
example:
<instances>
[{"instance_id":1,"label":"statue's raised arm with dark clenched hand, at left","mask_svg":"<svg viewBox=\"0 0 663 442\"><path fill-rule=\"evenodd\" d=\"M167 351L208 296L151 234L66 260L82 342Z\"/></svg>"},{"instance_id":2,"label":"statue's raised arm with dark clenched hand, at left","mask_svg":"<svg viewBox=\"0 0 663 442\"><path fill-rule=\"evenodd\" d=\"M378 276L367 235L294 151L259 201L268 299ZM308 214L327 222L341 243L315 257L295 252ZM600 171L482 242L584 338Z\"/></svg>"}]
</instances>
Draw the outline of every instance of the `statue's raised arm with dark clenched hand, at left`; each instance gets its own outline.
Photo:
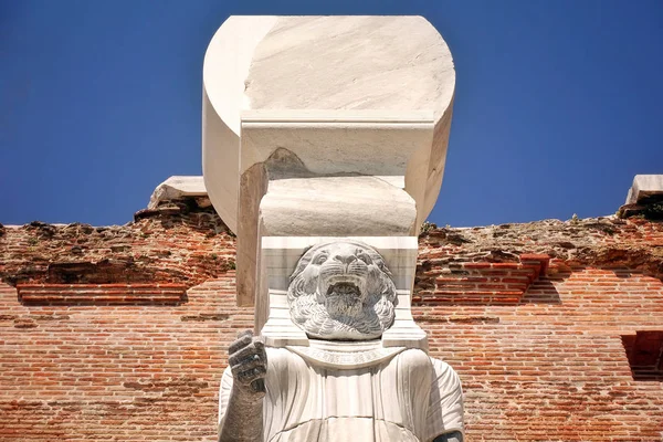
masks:
<instances>
[{"instance_id":1,"label":"statue's raised arm with dark clenched hand, at left","mask_svg":"<svg viewBox=\"0 0 663 442\"><path fill-rule=\"evenodd\" d=\"M264 378L267 371L265 347L246 330L230 345L228 352L233 382L219 430L219 442L262 441Z\"/></svg>"}]
</instances>

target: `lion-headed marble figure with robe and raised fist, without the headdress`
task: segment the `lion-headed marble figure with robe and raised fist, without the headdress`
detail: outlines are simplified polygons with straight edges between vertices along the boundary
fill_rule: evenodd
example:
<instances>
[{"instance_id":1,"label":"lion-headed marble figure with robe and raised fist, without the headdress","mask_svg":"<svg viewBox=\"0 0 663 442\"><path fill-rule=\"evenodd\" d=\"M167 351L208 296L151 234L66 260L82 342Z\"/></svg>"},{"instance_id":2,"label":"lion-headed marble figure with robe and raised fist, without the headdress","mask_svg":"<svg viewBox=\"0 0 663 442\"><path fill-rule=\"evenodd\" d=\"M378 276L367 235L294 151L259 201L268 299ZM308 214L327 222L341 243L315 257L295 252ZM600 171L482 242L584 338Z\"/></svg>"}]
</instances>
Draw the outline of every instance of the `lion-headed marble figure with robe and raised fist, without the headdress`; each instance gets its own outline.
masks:
<instances>
[{"instance_id":1,"label":"lion-headed marble figure with robe and raised fist, without the headdress","mask_svg":"<svg viewBox=\"0 0 663 442\"><path fill-rule=\"evenodd\" d=\"M357 241L309 249L291 277L292 320L309 347L229 348L220 441L463 441L461 382L423 350L381 348L396 288L380 254Z\"/></svg>"}]
</instances>

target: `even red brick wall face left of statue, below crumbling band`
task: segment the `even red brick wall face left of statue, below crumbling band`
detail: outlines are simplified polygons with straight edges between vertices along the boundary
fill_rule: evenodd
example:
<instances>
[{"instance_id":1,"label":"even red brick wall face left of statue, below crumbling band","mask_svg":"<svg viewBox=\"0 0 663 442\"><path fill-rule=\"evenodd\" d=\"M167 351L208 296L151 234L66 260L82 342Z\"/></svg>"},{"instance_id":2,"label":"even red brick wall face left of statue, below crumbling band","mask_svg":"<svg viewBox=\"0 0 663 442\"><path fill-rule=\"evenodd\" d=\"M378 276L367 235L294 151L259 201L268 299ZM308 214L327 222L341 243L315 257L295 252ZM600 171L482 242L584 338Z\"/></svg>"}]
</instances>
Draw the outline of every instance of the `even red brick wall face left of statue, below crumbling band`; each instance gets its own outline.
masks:
<instances>
[{"instance_id":1,"label":"even red brick wall face left of statue, below crumbling band","mask_svg":"<svg viewBox=\"0 0 663 442\"><path fill-rule=\"evenodd\" d=\"M181 305L24 306L0 287L0 440L214 441L234 272Z\"/></svg>"}]
</instances>

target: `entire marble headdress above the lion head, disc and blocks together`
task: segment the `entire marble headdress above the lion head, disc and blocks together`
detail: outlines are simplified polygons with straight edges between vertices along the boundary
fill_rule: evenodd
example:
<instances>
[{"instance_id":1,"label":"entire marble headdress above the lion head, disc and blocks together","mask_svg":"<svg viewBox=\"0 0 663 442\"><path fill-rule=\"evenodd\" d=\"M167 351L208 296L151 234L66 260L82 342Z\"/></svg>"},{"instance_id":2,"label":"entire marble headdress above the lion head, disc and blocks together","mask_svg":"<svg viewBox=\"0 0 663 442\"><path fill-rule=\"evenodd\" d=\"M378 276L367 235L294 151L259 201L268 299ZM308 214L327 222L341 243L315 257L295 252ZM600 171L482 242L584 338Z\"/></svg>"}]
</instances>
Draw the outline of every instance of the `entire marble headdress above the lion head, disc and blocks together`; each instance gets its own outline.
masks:
<instances>
[{"instance_id":1,"label":"entire marble headdress above the lion head, disc and blocks together","mask_svg":"<svg viewBox=\"0 0 663 442\"><path fill-rule=\"evenodd\" d=\"M327 217L334 233L325 234L418 233L442 181L454 85L449 48L421 17L223 23L204 59L203 175L214 208L238 234L240 305L254 303L260 238L319 234L324 217L316 211L330 213L334 204L324 201L344 198L339 189L323 190L319 203L307 204L314 197L296 179L362 175L391 186L343 193L352 210L361 208L358 193L368 192L365 200L400 204L398 214L388 203L367 204L372 218L352 230L329 222L345 215L339 206ZM275 182L283 178L272 169L278 149L302 166L288 182ZM297 193L299 204L290 198ZM278 204L283 214L272 210ZM313 222L287 222L295 218Z\"/></svg>"}]
</instances>

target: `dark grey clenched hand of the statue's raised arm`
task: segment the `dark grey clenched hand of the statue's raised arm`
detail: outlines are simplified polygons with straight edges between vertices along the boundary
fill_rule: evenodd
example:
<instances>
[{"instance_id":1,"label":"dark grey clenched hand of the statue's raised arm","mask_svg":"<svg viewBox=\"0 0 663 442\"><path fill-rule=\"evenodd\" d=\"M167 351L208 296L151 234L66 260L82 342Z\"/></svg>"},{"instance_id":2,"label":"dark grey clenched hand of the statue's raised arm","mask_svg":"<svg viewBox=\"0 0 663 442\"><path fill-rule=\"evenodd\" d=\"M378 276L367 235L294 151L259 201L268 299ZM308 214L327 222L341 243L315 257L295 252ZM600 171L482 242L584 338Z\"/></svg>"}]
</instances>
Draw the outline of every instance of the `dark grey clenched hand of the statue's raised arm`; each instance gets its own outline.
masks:
<instances>
[{"instance_id":1,"label":"dark grey clenched hand of the statue's raised arm","mask_svg":"<svg viewBox=\"0 0 663 442\"><path fill-rule=\"evenodd\" d=\"M228 348L233 389L249 401L262 400L265 396L267 355L264 344L251 330L242 332Z\"/></svg>"}]
</instances>

